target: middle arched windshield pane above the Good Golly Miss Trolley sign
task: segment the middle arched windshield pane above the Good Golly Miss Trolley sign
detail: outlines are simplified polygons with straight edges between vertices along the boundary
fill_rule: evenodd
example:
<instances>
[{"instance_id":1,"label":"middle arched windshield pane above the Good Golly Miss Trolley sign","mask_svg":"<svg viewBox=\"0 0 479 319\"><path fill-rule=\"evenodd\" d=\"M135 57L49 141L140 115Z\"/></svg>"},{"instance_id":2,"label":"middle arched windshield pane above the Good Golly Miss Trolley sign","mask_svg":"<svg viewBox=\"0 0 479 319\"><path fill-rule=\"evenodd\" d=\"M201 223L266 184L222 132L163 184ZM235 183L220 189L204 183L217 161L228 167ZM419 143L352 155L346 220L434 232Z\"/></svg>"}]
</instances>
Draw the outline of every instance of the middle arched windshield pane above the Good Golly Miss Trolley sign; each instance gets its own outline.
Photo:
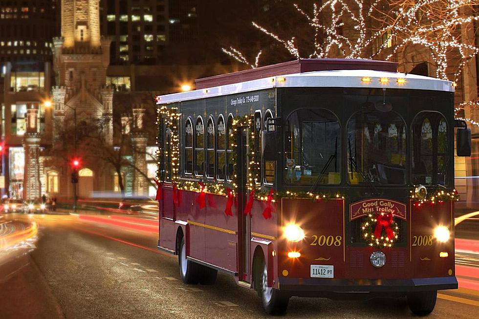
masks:
<instances>
[{"instance_id":1,"label":"middle arched windshield pane above the Good Golly Miss Trolley sign","mask_svg":"<svg viewBox=\"0 0 479 319\"><path fill-rule=\"evenodd\" d=\"M398 113L363 107L349 119L346 143L350 184L406 183L406 124Z\"/></svg>"}]
</instances>

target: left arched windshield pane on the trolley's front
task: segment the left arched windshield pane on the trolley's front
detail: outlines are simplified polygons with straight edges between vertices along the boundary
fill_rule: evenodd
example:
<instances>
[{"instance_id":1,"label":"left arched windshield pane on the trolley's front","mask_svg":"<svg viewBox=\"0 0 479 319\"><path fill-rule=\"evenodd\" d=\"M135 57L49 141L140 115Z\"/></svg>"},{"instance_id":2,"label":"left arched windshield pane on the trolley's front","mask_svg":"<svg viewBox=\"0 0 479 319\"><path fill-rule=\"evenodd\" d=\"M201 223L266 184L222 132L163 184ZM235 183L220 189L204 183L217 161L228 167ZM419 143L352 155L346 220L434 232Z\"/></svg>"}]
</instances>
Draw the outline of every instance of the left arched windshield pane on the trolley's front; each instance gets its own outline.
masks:
<instances>
[{"instance_id":1,"label":"left arched windshield pane on the trolley's front","mask_svg":"<svg viewBox=\"0 0 479 319\"><path fill-rule=\"evenodd\" d=\"M288 184L339 184L341 128L336 116L322 108L289 115L285 126L284 180Z\"/></svg>"}]
</instances>

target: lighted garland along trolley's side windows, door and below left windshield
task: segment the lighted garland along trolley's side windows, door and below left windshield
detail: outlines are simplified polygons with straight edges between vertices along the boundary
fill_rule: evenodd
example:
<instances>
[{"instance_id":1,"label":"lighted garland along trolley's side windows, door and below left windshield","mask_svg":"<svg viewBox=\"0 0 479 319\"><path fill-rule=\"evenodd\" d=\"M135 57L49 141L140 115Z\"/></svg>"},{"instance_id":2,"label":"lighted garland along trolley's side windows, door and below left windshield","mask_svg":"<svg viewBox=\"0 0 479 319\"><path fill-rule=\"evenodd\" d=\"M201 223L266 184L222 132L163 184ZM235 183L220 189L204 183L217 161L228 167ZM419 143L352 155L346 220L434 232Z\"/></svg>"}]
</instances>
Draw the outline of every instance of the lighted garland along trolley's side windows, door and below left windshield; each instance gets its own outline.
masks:
<instances>
[{"instance_id":1,"label":"lighted garland along trolley's side windows, door and below left windshield","mask_svg":"<svg viewBox=\"0 0 479 319\"><path fill-rule=\"evenodd\" d=\"M157 119L156 125L158 125L161 121L161 118L165 118L165 126L171 130L172 134L172 145L171 145L171 154L168 153L166 149L158 148L156 151L156 155L158 156L158 166L161 164L160 160L162 156L171 157L171 165L172 165L172 180L175 183L178 190L185 190L185 191L194 191L194 192L206 192L211 194L223 195L227 196L228 194L228 186L225 185L223 182L206 182L201 183L197 181L185 181L181 180L179 176L179 160L180 160L180 153L179 153L179 127L178 127L178 120L180 118L180 113L177 113L178 109L176 107L168 108L167 106L161 106L157 109ZM233 147L233 156L238 158L239 156L239 145L236 143L236 136L238 134L238 129L244 127L249 128L249 145L254 145L255 138L257 138L255 129L254 129L254 114L246 114L241 117L236 117L233 119L231 133L229 138L232 142ZM163 132L160 132L162 134ZM159 136L156 138L156 145L159 144ZM259 158L253 148L250 148L249 152L249 163L246 172L247 181L246 187L248 191L253 191L255 194L255 199L261 201L267 201L269 191L261 191L260 185L257 185L255 182L254 174L258 172L258 168L260 167L261 163ZM231 181L231 192L234 196L238 191L238 163L235 161L233 163L233 180ZM156 171L157 179L160 180L161 174L160 170ZM311 198L313 200L328 200L328 199L344 199L340 193L313 193L313 192L304 192L304 191L275 191L273 193L272 202L275 202L276 199L279 198Z\"/></svg>"}]
</instances>

